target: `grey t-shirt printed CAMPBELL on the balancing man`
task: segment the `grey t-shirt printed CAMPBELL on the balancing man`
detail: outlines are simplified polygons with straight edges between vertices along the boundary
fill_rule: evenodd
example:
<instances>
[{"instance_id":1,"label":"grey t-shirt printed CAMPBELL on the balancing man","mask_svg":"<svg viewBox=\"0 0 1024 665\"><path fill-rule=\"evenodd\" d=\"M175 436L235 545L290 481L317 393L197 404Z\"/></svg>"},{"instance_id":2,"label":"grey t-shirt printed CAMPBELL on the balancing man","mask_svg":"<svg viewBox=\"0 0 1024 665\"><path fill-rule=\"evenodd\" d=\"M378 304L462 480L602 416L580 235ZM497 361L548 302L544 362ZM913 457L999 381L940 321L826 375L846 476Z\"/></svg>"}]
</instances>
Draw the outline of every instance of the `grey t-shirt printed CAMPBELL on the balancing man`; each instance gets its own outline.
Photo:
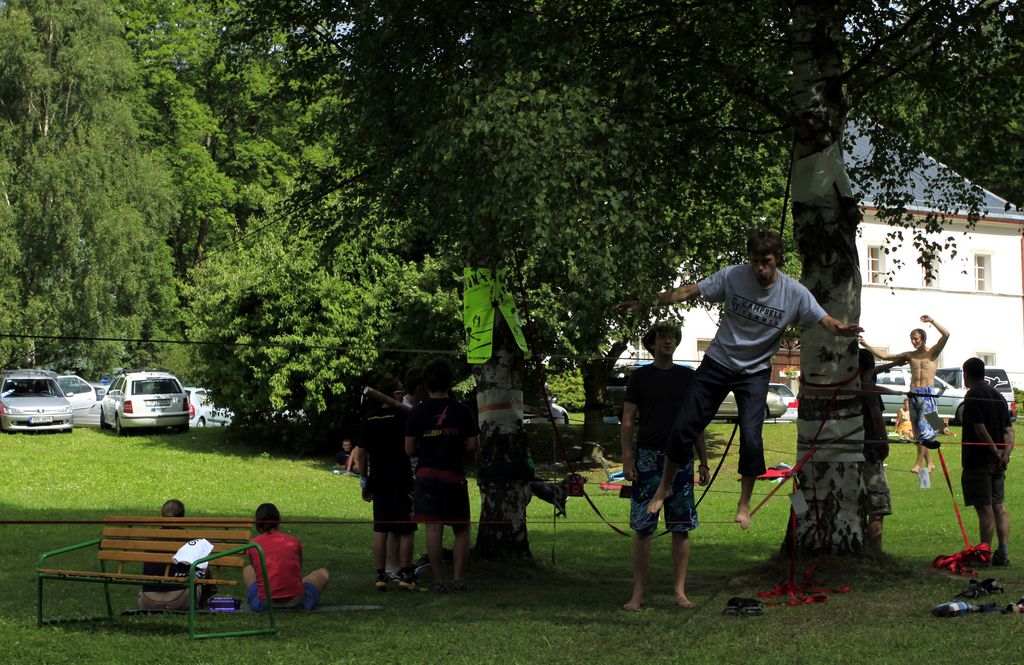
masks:
<instances>
[{"instance_id":1,"label":"grey t-shirt printed CAMPBELL on the balancing man","mask_svg":"<svg viewBox=\"0 0 1024 665\"><path fill-rule=\"evenodd\" d=\"M765 289L749 263L730 265L697 283L700 295L722 303L722 325L706 355L731 370L753 374L769 367L790 324L809 328L825 318L807 288L781 271Z\"/></svg>"}]
</instances>

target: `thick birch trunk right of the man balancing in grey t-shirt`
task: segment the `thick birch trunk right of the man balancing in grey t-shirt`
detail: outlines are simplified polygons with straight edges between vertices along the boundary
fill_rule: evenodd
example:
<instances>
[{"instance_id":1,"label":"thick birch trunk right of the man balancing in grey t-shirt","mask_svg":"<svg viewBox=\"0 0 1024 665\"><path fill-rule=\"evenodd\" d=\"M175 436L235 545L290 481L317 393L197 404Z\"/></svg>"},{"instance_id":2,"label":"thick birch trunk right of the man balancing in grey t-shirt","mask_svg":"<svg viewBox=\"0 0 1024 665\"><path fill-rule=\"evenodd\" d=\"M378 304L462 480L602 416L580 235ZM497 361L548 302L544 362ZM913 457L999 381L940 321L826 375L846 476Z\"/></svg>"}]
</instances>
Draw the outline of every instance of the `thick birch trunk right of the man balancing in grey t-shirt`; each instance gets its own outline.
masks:
<instances>
[{"instance_id":1,"label":"thick birch trunk right of the man balancing in grey t-shirt","mask_svg":"<svg viewBox=\"0 0 1024 665\"><path fill-rule=\"evenodd\" d=\"M856 322L861 281L855 236L860 210L842 156L850 107L842 78L843 20L834 3L796 3L793 218L803 284L829 315ZM812 446L817 451L798 476L809 507L797 518L797 546L805 552L858 552L865 542L860 399L840 394L829 409L836 388L810 385L835 386L856 373L857 340L835 337L820 327L807 329L801 336L800 369L804 385L797 456L803 458ZM854 378L845 387L859 385Z\"/></svg>"}]
</instances>

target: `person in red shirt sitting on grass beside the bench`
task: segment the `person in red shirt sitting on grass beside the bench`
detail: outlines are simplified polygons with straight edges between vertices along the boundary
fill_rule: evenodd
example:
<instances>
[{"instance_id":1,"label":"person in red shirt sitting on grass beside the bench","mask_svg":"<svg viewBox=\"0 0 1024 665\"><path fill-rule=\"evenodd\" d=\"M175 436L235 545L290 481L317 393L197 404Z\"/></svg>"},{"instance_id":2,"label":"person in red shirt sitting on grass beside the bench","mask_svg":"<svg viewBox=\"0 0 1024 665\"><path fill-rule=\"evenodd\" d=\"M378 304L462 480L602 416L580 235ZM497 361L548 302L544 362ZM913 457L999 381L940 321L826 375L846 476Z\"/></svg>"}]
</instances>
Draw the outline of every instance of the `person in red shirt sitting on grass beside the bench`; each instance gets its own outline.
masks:
<instances>
[{"instance_id":1,"label":"person in red shirt sitting on grass beside the bench","mask_svg":"<svg viewBox=\"0 0 1024 665\"><path fill-rule=\"evenodd\" d=\"M254 612L265 612L268 602L273 602L275 608L313 610L319 602L321 592L327 586L330 575L327 569L321 568L302 577L302 543L295 536L279 531L280 526L278 506L263 503L256 508L256 531L259 535L252 542L263 549L271 586L267 593L259 553L255 548L248 550L251 566L245 567L242 577L249 606Z\"/></svg>"}]
</instances>

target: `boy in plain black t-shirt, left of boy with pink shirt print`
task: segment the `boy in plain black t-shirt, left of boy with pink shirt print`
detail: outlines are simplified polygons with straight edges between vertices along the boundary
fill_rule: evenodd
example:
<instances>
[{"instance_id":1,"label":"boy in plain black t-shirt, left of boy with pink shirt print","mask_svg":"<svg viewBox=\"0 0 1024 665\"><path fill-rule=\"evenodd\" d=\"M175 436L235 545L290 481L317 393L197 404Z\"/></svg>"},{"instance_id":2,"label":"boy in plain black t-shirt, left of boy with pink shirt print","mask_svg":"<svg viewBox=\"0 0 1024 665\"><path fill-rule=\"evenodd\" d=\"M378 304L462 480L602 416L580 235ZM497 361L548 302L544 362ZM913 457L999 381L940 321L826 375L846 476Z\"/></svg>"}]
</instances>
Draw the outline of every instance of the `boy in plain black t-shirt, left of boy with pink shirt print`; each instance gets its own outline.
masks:
<instances>
[{"instance_id":1,"label":"boy in plain black t-shirt, left of boy with pink shirt print","mask_svg":"<svg viewBox=\"0 0 1024 665\"><path fill-rule=\"evenodd\" d=\"M397 379L387 379L378 387L380 392L395 400L402 396ZM413 514L413 470L406 454L406 425L409 411L384 404L367 414L359 434L359 448L367 451L359 468L362 500L374 504L374 564L377 567L376 586L387 589L388 541L392 545L392 565L398 566L398 588L416 589L413 569L413 536L416 524ZM393 573L392 573L393 575Z\"/></svg>"}]
</instances>

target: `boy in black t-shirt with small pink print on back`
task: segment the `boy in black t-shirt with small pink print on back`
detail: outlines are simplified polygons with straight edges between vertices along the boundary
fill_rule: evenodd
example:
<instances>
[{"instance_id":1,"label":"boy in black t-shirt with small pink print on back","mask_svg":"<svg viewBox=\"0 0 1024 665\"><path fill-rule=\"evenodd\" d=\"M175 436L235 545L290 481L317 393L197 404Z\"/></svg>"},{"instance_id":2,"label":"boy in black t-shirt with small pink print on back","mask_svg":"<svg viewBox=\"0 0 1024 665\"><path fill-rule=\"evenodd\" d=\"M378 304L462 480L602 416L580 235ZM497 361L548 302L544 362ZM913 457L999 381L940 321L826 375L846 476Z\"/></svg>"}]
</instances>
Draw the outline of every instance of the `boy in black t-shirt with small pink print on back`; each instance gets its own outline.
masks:
<instances>
[{"instance_id":1,"label":"boy in black t-shirt with small pink print on back","mask_svg":"<svg viewBox=\"0 0 1024 665\"><path fill-rule=\"evenodd\" d=\"M444 525L455 534L453 591L466 590L463 578L469 557L469 490L463 457L479 446L472 412L452 398L452 365L435 358L423 368L430 397L413 409L406 428L406 454L419 453L413 495L413 518L426 524L427 555L434 590L444 592L442 536Z\"/></svg>"}]
</instances>

